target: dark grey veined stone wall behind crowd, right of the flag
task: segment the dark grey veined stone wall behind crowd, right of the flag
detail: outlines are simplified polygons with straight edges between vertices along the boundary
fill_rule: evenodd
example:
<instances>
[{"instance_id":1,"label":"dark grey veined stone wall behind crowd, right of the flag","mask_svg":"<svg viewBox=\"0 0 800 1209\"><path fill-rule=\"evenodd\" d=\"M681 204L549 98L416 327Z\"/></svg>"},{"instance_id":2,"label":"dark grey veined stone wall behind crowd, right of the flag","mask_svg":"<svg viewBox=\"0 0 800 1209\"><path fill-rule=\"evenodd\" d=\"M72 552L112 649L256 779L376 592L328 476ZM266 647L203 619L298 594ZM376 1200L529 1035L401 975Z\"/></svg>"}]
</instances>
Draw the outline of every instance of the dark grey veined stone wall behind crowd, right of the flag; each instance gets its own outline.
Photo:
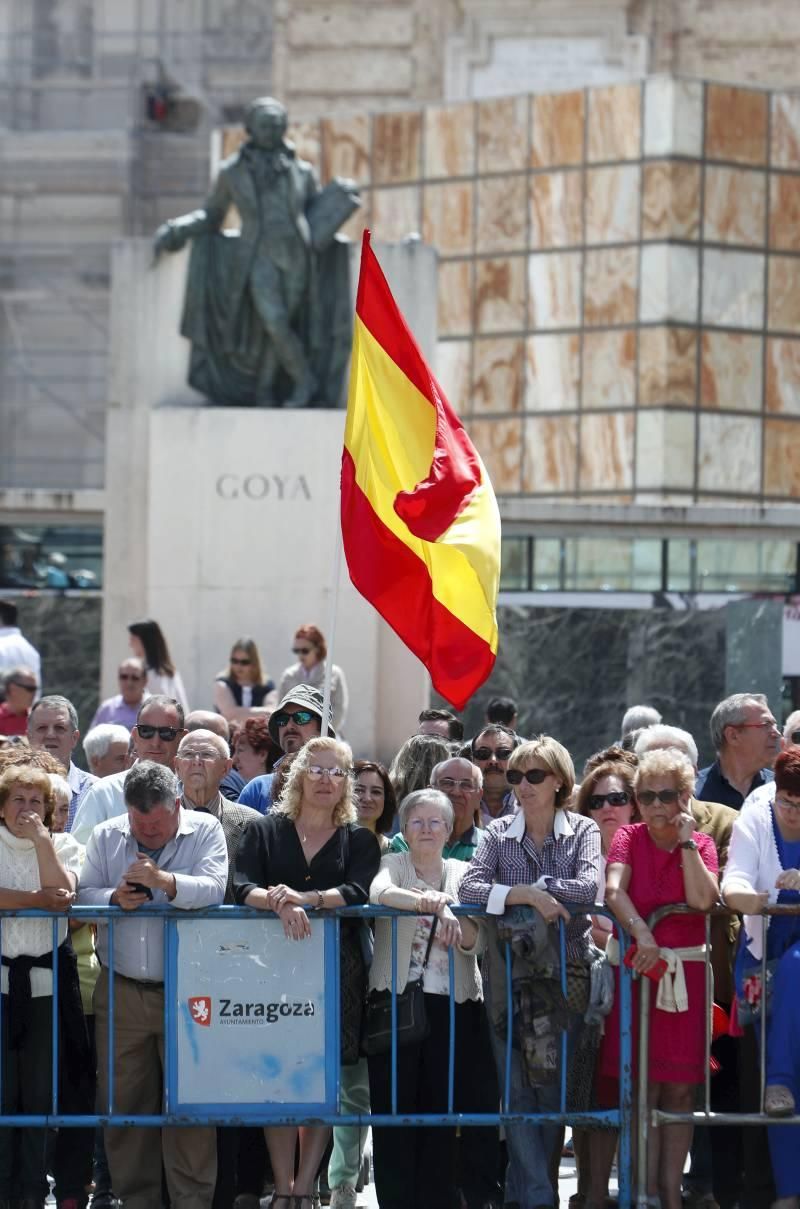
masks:
<instances>
[{"instance_id":1,"label":"dark grey veined stone wall behind crowd, right of the flag","mask_svg":"<svg viewBox=\"0 0 800 1209\"><path fill-rule=\"evenodd\" d=\"M630 705L654 705L689 730L701 767L713 759L708 719L725 696L725 611L498 611L494 671L464 711L476 734L492 696L512 696L520 734L550 734L580 773L585 759L619 739ZM441 699L437 704L446 705Z\"/></svg>"}]
</instances>

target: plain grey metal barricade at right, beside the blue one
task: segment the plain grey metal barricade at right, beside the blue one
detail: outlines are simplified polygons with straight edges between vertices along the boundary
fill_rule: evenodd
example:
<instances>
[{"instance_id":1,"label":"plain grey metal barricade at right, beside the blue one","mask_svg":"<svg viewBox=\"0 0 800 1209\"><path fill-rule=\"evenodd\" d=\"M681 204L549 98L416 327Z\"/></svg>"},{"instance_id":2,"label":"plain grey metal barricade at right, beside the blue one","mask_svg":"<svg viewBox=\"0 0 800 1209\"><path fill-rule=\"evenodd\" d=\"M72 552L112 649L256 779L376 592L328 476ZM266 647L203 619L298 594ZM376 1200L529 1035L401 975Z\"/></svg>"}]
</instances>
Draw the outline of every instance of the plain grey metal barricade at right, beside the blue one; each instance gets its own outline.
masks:
<instances>
[{"instance_id":1,"label":"plain grey metal barricade at right, beside the blue one","mask_svg":"<svg viewBox=\"0 0 800 1209\"><path fill-rule=\"evenodd\" d=\"M718 904L711 912L698 912L685 903L672 903L659 907L648 919L650 931L666 919L667 915L703 915L706 926L706 996L708 1010L705 1013L706 1047L705 1047L705 1087L702 1107L692 1112L666 1112L662 1109L653 1109L650 1112L642 1110L637 1113L637 1163L636 1163L636 1204L637 1209L648 1209L648 1139L650 1128L659 1128L669 1123L694 1123L701 1126L796 1126L800 1124L800 1115L790 1117L767 1117L764 1111L759 1112L714 1112L711 1107L711 1045L712 1045L712 1012L713 1002L713 976L711 962L711 921L714 915L735 915L736 912ZM765 907L760 913L763 919L763 947L761 947L761 987L766 987L766 930L770 915L798 915L800 906L775 904ZM638 1040L638 1071L637 1071L637 1099L640 1106L648 1103L648 1069L650 1054L650 996L653 983L649 978L637 978L639 983L639 1040ZM766 1012L761 1011L758 1024L759 1030L759 1104L764 1106L764 1088L766 1084Z\"/></svg>"}]
</instances>

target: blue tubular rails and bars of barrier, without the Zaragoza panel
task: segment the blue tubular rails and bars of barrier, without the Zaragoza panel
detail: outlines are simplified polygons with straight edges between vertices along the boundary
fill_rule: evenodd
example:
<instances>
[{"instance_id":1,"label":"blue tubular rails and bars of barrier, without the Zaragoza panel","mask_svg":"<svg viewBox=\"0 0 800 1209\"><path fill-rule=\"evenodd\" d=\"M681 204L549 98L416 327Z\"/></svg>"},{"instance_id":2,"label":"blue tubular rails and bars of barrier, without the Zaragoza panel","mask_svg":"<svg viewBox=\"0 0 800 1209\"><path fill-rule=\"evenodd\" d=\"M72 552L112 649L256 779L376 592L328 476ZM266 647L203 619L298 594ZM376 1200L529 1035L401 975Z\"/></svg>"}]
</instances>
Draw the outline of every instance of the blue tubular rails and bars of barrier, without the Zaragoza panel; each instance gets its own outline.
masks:
<instances>
[{"instance_id":1,"label":"blue tubular rails and bars of barrier, without the Zaragoza panel","mask_svg":"<svg viewBox=\"0 0 800 1209\"><path fill-rule=\"evenodd\" d=\"M567 904L568 906L568 904ZM173 1035L170 1028L174 1017L178 1011L178 1000L175 994L175 988L170 984L168 974L168 961L167 955L173 951L170 935L175 932L179 921L186 922L187 920L197 919L213 919L220 920L263 920L265 918L271 918L269 913L254 910L247 907L211 907L202 910L186 912L179 910L174 907L146 907L140 908L147 912L149 915L157 914L163 918L164 926L164 954L166 954L166 974L167 980L164 985L164 1039L169 1039ZM573 914L587 914L586 906L575 906L569 908ZM485 915L485 912L476 909L475 907L454 907L453 912L457 915L471 915L479 918ZM609 912L602 906L595 906L591 908L591 913L596 915L609 915ZM335 954L340 951L340 922L342 919L358 919L367 920L375 916L383 916L392 919L392 1048L390 1048L390 1062L392 1062L392 1112L390 1113L370 1113L369 1116L342 1113L342 1112L323 1112L315 1113L313 1116L298 1115L297 1112L286 1112L285 1115L265 1113L259 1116L257 1113L242 1115L234 1111L227 1112L205 1112L202 1116L190 1116L181 1112L170 1111L169 1105L164 1107L161 1113L120 1113L115 1111L115 1071L114 1071L114 1053L115 1053L115 1034L114 1034L114 1014L115 1014L115 977L111 977L115 967L115 925L117 921L124 919L132 921L132 913L124 912L118 907L73 907L68 913L53 914L51 912L44 910L19 910L0 912L0 935L2 929L2 920L5 918L15 919L52 919L53 927L53 951L57 949L58 942L58 922L63 921L64 918L81 920L83 922L103 922L108 925L108 959L109 959L109 1000L108 1000L108 1031L105 1037L97 1036L97 1045L106 1045L108 1049L108 1103L103 1105L103 1111L95 1113L82 1113L71 1115L59 1111L58 1104L58 1069L59 1069L59 1054L58 1054L58 964L53 962L53 1014L52 1014L52 1045L53 1045L53 1057L52 1057L52 1111L46 1115L23 1115L23 1113L10 1113L0 1117L0 1126L56 1126L56 1127L80 1127L80 1126L144 1126L144 1127L162 1127L162 1126L190 1126L190 1124L204 1124L204 1126L236 1126L240 1123L248 1124L349 1124L349 1126L433 1126L433 1127L469 1127L469 1126L503 1126L512 1122L531 1122L533 1124L561 1124L570 1127L592 1128L592 1127L614 1127L620 1132L620 1155L619 1155L619 1204L621 1209L628 1209L631 1204L631 1172L632 1172L632 1147L631 1147L631 1132L632 1132L632 1105L633 1105L633 1086L632 1086L632 1054L631 1054L631 973L626 967L620 968L620 1104L616 1109L604 1109L604 1110L591 1110L582 1112L569 1112L567 1110L567 1035L562 1035L561 1040L561 1063L560 1063L560 1106L558 1110L541 1113L526 1113L526 1112L514 1112L510 1109L511 1095L510 1095L510 1083L511 1083L511 1053L512 1053L512 1029L506 1030L505 1037L505 1062L504 1062L504 1074L505 1077L498 1081L500 1087L500 1104L498 1105L497 1112L459 1112L454 1109L454 1080L456 1080L456 1000L453 995L453 954L450 953L448 968L450 968L450 1052L448 1052L448 1066L447 1066L447 1112L446 1113L398 1113L398 1039L396 1039L396 984L398 984L398 919L407 916L407 913L394 910L385 907L346 907L338 908L334 912L326 910L323 913L309 912L312 919L325 919L329 920L335 927L336 936L336 949ZM274 916L272 916L274 918ZM561 977L562 977L562 991L566 995L567 991L567 961L566 961L566 924L563 920L558 920L560 927L560 948L561 948ZM303 942L295 942L302 945ZM627 943L627 937L622 936L621 941L625 947ZM505 945L505 961L506 972L509 977L506 978L506 1019L509 1022L514 1018L512 1011L512 985L510 978L511 971L511 948L510 943L506 942ZM338 966L338 961L335 962ZM121 976L120 976L121 977ZM335 1029L335 1045L332 1047L332 1060L335 1062L336 1081L337 1087L340 1082L340 997L338 997L338 977L331 980L331 985L325 988L326 1005L334 1012L334 1019L336 1023ZM0 1013L2 1011L2 1005L0 1002ZM0 1017L1 1025L1 1017ZM326 1059L331 1062L330 1048L326 1052ZM164 1045L164 1086L173 1086L174 1076L174 1064L176 1057L173 1052L170 1045ZM0 1071L0 1075L5 1077L5 1071ZM1 1082L1 1080L0 1080Z\"/></svg>"}]
</instances>

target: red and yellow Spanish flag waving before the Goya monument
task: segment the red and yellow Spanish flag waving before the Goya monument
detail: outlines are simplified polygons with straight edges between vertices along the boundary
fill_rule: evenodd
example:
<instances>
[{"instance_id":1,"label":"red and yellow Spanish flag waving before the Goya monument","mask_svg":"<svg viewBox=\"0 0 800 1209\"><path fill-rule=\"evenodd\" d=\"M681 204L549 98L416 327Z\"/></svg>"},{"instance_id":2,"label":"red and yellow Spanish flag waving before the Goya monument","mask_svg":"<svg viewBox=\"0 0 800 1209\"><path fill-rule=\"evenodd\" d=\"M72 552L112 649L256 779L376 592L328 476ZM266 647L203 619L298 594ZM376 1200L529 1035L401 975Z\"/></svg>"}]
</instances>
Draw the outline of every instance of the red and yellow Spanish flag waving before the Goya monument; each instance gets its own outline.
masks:
<instances>
[{"instance_id":1,"label":"red and yellow Spanish flag waving before the Goya monument","mask_svg":"<svg viewBox=\"0 0 800 1209\"><path fill-rule=\"evenodd\" d=\"M355 588L462 710L497 655L500 516L486 468L361 248L342 455Z\"/></svg>"}]
</instances>

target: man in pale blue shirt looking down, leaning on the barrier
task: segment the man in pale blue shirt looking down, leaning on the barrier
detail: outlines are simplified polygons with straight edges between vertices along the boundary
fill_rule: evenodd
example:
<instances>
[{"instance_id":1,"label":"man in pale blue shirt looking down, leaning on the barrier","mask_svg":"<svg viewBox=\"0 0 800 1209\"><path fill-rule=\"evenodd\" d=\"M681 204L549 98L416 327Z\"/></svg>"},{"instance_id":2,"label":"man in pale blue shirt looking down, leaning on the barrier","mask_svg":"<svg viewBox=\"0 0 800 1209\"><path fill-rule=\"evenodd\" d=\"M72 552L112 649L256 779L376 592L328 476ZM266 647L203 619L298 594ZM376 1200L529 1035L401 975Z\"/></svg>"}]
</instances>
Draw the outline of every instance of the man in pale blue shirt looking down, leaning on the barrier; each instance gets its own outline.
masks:
<instances>
[{"instance_id":1,"label":"man in pale blue shirt looking down, leaning on the barrier","mask_svg":"<svg viewBox=\"0 0 800 1209\"><path fill-rule=\"evenodd\" d=\"M175 775L143 759L124 780L126 812L102 823L86 849L79 903L121 907L131 914L114 930L114 1110L161 1111L164 1052L163 921L140 910L170 903L191 910L222 902L227 849L216 818L184 810ZM109 1013L108 925L98 926L100 977L94 989L98 1037ZM109 1094L108 1047L98 1046L98 1105ZM173 1205L209 1207L216 1179L211 1128L104 1129L111 1182L127 1209L161 1204L162 1161Z\"/></svg>"}]
</instances>

